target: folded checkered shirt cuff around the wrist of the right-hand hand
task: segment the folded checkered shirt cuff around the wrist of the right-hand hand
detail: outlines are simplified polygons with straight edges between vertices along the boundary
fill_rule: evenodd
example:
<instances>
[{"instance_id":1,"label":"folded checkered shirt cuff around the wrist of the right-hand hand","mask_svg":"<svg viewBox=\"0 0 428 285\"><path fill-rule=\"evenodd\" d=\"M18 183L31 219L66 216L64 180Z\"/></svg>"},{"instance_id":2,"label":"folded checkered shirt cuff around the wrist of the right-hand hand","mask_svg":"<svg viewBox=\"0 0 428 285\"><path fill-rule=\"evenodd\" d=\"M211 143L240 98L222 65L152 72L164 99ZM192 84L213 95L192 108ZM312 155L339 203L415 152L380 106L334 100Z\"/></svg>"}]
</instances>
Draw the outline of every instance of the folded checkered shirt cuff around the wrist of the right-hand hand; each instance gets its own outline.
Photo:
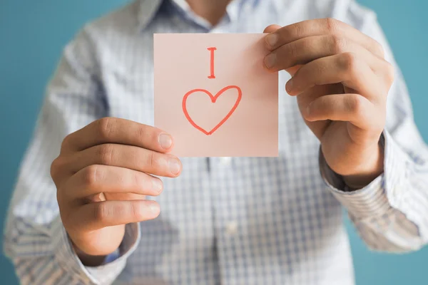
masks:
<instances>
[{"instance_id":1,"label":"folded checkered shirt cuff around the wrist of the right-hand hand","mask_svg":"<svg viewBox=\"0 0 428 285\"><path fill-rule=\"evenodd\" d=\"M320 172L332 194L356 219L380 217L392 208L400 209L403 202L409 157L396 145L389 133L382 133L380 144L384 146L384 172L360 190L347 190L340 175L327 165L320 150Z\"/></svg>"}]
</instances>

